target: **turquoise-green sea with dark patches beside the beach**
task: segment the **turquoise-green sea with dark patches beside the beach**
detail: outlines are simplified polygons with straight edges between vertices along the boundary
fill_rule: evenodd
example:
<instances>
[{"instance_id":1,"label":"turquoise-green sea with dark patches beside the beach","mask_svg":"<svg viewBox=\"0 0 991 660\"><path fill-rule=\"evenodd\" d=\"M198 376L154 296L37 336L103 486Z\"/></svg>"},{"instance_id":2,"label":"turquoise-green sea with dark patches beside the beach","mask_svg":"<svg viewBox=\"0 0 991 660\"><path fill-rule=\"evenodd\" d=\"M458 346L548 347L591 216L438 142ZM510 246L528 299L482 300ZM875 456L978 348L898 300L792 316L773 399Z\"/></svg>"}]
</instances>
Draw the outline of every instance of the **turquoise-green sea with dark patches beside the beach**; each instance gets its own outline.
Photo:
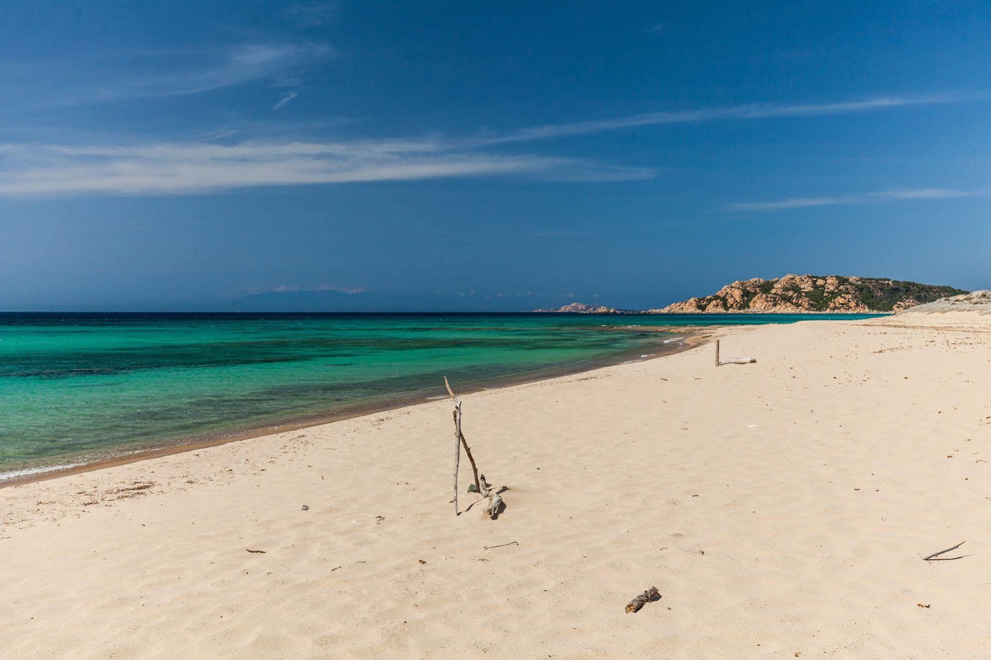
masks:
<instances>
[{"instance_id":1,"label":"turquoise-green sea with dark patches beside the beach","mask_svg":"<svg viewBox=\"0 0 991 660\"><path fill-rule=\"evenodd\" d=\"M0 313L0 480L830 318L864 316Z\"/></svg>"}]
</instances>

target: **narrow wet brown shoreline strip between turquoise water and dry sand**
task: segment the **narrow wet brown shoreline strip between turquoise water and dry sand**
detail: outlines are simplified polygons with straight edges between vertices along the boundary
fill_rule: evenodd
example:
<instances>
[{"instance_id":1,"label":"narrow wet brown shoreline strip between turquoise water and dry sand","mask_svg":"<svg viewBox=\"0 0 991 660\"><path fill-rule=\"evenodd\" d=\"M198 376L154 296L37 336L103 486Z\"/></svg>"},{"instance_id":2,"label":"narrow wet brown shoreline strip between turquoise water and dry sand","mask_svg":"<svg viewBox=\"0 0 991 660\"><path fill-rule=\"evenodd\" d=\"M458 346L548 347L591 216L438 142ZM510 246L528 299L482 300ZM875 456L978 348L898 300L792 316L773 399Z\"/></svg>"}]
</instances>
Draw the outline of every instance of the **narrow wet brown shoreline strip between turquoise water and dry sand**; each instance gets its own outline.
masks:
<instances>
[{"instance_id":1,"label":"narrow wet brown shoreline strip between turquoise water and dry sand","mask_svg":"<svg viewBox=\"0 0 991 660\"><path fill-rule=\"evenodd\" d=\"M666 326L664 330L651 330L651 331L671 332L669 328L673 328L673 327L677 327L677 326ZM718 326L718 327L721 329L732 326ZM609 358L579 362L569 365L567 367L545 368L542 370L529 372L527 375L522 376L521 378L504 377L502 379L496 379L492 386L468 387L465 388L464 390L459 391L458 394L459 395L471 394L478 391L502 389L505 387L511 387L513 385L526 385L530 383L539 383L541 381L550 381L553 379L562 378L566 376L584 374L587 372L592 372L598 369L602 369L604 367L612 367L614 365L645 362L647 360L664 358L670 355L675 355L678 353L682 353L684 351L691 350L705 343L704 340L707 339L708 336L704 334L704 330L705 327L703 326L693 326L688 329L682 329L682 332L685 333L684 337L671 338L671 340L676 340L676 341L672 341L672 345L674 347L672 348L672 350L665 351L664 348L668 346L668 344L662 343L659 346L659 348L661 349L659 353L648 354L648 357L645 358L637 357L635 359L631 359L634 354L637 356L643 355L641 353L642 349L637 349L636 351L633 352L623 352L611 356ZM447 396L445 395L440 398L447 398ZM35 484L38 482L47 482L55 479L60 479L62 477L70 477L72 475L79 475L88 472L94 472L97 470L104 470L107 468L115 468L118 466L130 465L132 463L139 463L141 461L162 458L174 454L184 454L187 452L197 451L200 449L207 449L209 447L219 447L221 445L226 445L233 442L241 442L243 440L261 438L267 435L275 435L278 433L298 431L305 428L322 426L324 424L331 424L334 422L344 421L347 419L355 419L358 417L364 417L366 415L377 414L380 412L398 410L400 408L406 408L413 405L428 403L432 400L437 400L437 399L436 397L423 397L420 395L399 396L394 399L390 399L387 403L360 405L348 409L343 409L338 412L330 413L330 414L323 413L314 416L289 419L284 422L275 423L275 424L266 424L264 426L259 426L259 427L226 431L221 437L193 439L195 436L185 436L184 439L173 438L170 441L173 444L167 444L165 446L157 446L157 447L138 448L132 451L126 451L126 453L122 455L109 456L106 458L97 458L92 461L75 463L64 467L53 466L52 469L44 470L43 472L18 475L15 477L8 477L8 478L3 478L2 477L3 473L0 472L0 491L13 486L25 486L28 484ZM163 442L169 442L169 441L163 441ZM110 451L113 450L108 450L108 452ZM71 456L66 456L63 458L65 461L81 460L79 459L79 457L71 457ZM13 468L11 472L16 472L18 470L30 470L30 469L32 468Z\"/></svg>"}]
</instances>

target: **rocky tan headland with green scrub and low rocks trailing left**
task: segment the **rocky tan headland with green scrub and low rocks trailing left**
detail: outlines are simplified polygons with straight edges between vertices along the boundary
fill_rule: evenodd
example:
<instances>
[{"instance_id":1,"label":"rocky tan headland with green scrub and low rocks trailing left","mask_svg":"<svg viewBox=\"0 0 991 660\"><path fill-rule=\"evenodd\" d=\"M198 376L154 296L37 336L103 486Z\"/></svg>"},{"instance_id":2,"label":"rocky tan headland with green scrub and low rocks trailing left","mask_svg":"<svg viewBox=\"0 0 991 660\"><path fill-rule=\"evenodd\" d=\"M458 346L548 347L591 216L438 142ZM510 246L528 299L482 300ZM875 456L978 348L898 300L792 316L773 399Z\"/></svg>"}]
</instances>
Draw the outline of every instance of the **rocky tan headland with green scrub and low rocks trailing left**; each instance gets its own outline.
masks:
<instances>
[{"instance_id":1,"label":"rocky tan headland with green scrub and low rocks trailing left","mask_svg":"<svg viewBox=\"0 0 991 660\"><path fill-rule=\"evenodd\" d=\"M661 309L614 309L581 302L538 312L580 314L698 314L702 313L807 313L864 314L893 312L967 293L952 286L914 281L843 275L785 275L776 279L745 279L726 284L716 293L689 298Z\"/></svg>"}]
</instances>

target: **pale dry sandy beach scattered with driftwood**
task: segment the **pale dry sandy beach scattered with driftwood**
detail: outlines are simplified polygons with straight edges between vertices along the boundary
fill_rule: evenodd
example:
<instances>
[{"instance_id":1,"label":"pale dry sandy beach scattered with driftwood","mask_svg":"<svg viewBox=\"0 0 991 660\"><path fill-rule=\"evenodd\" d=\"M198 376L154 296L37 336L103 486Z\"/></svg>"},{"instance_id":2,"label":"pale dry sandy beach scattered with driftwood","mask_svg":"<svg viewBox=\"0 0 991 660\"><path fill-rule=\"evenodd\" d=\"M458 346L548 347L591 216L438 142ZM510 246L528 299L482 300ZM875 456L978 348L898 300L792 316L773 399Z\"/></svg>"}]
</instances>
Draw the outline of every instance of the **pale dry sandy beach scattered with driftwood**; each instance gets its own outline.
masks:
<instances>
[{"instance_id":1,"label":"pale dry sandy beach scattered with driftwood","mask_svg":"<svg viewBox=\"0 0 991 660\"><path fill-rule=\"evenodd\" d=\"M709 334L466 395L496 520L449 400L0 489L2 655L991 656L991 316Z\"/></svg>"}]
</instances>

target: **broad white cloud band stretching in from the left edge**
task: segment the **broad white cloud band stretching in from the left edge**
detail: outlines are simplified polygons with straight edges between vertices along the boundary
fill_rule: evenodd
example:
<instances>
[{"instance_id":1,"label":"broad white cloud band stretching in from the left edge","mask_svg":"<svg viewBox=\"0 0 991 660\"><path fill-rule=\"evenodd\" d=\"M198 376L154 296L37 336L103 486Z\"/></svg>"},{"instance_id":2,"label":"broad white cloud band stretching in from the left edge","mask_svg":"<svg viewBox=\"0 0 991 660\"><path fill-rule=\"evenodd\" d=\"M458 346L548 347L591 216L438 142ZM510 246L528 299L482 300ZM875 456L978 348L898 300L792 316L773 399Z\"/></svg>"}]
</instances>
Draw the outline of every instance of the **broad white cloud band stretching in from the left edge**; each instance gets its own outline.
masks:
<instances>
[{"instance_id":1,"label":"broad white cloud band stretching in from the left edge","mask_svg":"<svg viewBox=\"0 0 991 660\"><path fill-rule=\"evenodd\" d=\"M0 146L0 194L189 194L271 185L554 172L593 165L542 156L447 153L418 142ZM2 166L2 165L0 165ZM606 174L615 176L609 170ZM640 175L638 173L638 175Z\"/></svg>"}]
</instances>

